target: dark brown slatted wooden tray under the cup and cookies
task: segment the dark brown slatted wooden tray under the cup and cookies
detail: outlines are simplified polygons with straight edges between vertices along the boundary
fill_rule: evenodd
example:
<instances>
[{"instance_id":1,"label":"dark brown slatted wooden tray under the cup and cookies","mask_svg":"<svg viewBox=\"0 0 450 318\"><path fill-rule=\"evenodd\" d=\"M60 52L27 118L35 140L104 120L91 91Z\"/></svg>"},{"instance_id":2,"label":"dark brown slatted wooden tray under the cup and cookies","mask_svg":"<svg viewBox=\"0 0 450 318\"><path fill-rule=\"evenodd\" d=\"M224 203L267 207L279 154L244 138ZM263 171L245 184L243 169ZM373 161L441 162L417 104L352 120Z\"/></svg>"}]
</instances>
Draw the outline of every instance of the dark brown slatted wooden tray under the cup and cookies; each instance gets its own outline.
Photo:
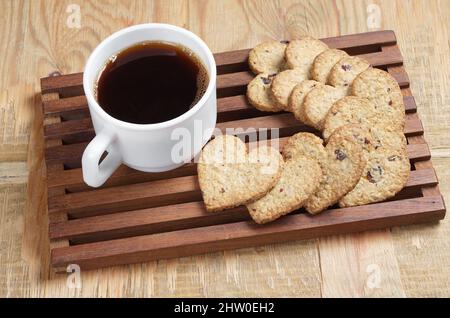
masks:
<instances>
[{"instance_id":1,"label":"dark brown slatted wooden tray under the cup and cookies","mask_svg":"<svg viewBox=\"0 0 450 318\"><path fill-rule=\"evenodd\" d=\"M190 256L261 244L437 221L445 205L409 90L409 78L392 31L323 39L330 47L366 58L392 74L402 88L411 177L387 202L331 208L316 216L296 211L267 225L250 221L245 208L207 213L194 164L164 173L120 167L98 189L83 183L81 155L94 131L83 95L82 73L41 80L51 263L56 270L83 270ZM311 131L288 113L263 113L245 98L249 50L215 54L218 126L280 129L286 137Z\"/></svg>"}]
</instances>

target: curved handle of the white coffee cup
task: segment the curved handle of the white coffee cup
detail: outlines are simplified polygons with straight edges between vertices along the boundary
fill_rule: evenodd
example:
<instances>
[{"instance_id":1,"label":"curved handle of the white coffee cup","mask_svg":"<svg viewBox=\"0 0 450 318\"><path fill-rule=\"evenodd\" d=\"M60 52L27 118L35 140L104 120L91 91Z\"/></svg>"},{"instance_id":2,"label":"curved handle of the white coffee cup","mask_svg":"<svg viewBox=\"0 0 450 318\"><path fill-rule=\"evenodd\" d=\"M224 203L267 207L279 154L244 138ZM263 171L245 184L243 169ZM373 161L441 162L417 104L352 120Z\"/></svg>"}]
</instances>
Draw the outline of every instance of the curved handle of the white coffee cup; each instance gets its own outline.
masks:
<instances>
[{"instance_id":1,"label":"curved handle of the white coffee cup","mask_svg":"<svg viewBox=\"0 0 450 318\"><path fill-rule=\"evenodd\" d=\"M102 130L89 143L83 153L81 164L83 179L91 187L99 187L113 174L122 163L122 157L117 149L110 147L110 151L99 164L106 149L112 145L115 136Z\"/></svg>"}]
</instances>

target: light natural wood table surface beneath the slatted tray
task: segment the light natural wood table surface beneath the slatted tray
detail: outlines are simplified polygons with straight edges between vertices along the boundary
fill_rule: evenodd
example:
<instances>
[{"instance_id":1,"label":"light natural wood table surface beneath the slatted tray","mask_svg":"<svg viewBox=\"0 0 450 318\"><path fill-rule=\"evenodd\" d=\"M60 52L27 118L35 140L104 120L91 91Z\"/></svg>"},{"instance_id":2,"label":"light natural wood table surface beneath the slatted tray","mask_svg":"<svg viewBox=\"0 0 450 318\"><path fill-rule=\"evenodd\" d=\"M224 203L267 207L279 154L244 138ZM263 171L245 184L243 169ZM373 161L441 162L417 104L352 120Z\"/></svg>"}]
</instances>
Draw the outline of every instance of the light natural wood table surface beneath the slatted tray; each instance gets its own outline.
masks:
<instances>
[{"instance_id":1,"label":"light natural wood table surface beneath the slatted tray","mask_svg":"<svg viewBox=\"0 0 450 318\"><path fill-rule=\"evenodd\" d=\"M450 296L449 217L81 272L71 288L49 269L38 94L40 77L81 71L103 38L132 24L185 27L213 52L392 29L449 203L450 1L2 0L0 12L0 296Z\"/></svg>"}]
</instances>

